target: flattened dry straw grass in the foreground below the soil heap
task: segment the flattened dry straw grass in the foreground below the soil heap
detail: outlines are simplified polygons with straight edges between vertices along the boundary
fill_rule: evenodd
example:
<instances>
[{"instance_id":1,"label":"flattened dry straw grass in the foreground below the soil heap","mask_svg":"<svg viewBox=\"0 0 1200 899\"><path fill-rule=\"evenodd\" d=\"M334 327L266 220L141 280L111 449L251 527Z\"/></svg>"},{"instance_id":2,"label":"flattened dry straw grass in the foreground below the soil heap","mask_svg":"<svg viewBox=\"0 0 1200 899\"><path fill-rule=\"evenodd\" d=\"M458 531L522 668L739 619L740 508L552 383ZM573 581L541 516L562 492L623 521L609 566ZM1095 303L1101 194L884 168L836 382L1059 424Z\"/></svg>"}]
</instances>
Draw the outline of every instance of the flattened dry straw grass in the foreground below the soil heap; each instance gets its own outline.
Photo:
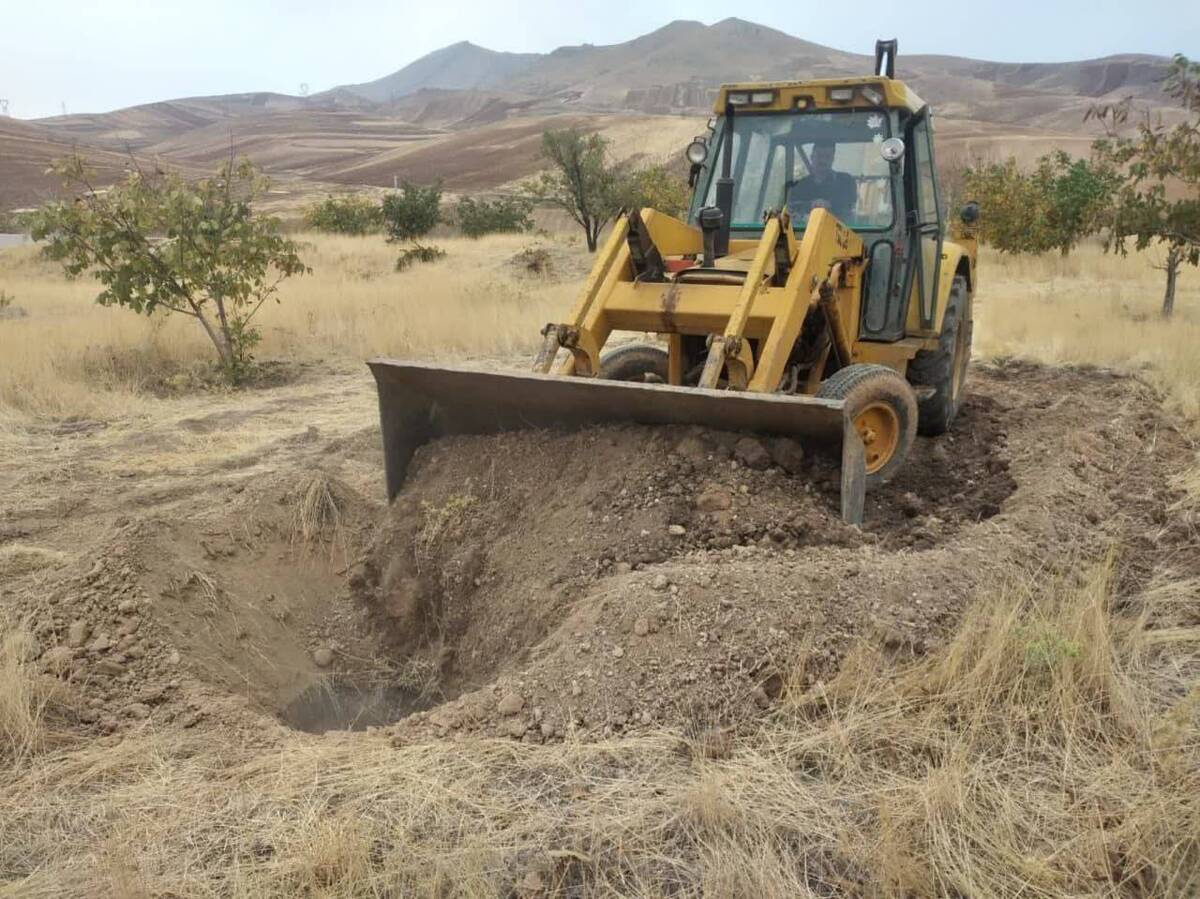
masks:
<instances>
[{"instance_id":1,"label":"flattened dry straw grass in the foreground below the soil heap","mask_svg":"<svg viewBox=\"0 0 1200 899\"><path fill-rule=\"evenodd\" d=\"M1147 641L1178 610L1115 613L1112 570L985 597L907 670L863 651L724 760L668 733L46 754L7 771L0 894L1194 895L1200 690Z\"/></svg>"}]
</instances>

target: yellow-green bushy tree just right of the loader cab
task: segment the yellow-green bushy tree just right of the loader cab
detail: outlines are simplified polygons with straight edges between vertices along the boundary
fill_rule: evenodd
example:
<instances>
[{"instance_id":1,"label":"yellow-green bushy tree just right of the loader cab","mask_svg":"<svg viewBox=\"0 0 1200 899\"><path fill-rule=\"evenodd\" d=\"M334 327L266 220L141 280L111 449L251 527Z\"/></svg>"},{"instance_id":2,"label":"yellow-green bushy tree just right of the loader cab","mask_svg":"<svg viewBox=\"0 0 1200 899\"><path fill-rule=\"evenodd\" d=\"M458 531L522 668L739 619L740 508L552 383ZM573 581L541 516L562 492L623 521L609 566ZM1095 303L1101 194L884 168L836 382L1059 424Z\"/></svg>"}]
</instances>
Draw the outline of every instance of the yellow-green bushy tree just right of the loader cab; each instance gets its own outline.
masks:
<instances>
[{"instance_id":1,"label":"yellow-green bushy tree just right of the loader cab","mask_svg":"<svg viewBox=\"0 0 1200 899\"><path fill-rule=\"evenodd\" d=\"M1106 221L1118 176L1104 160L1076 160L1062 150L1024 172L1016 160L968 167L962 192L979 203L979 236L1006 253L1066 256Z\"/></svg>"}]
</instances>

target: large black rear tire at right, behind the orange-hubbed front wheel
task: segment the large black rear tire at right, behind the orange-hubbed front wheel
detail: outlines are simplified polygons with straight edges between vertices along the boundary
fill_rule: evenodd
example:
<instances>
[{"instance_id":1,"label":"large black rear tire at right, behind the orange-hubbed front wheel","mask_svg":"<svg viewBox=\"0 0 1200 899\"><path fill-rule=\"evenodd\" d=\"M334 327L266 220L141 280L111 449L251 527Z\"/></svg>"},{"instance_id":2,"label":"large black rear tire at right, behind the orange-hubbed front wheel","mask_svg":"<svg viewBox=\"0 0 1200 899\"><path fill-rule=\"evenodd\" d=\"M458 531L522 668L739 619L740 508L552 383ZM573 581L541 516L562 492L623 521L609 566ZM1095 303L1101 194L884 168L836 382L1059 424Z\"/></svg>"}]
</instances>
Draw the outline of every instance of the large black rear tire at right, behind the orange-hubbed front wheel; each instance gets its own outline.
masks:
<instances>
[{"instance_id":1,"label":"large black rear tire at right, behind the orange-hubbed front wheel","mask_svg":"<svg viewBox=\"0 0 1200 899\"><path fill-rule=\"evenodd\" d=\"M920 433L936 437L954 424L966 394L970 362L971 294L966 278L955 275L937 349L923 349L908 362L908 382L934 388L934 394L918 403Z\"/></svg>"}]
</instances>

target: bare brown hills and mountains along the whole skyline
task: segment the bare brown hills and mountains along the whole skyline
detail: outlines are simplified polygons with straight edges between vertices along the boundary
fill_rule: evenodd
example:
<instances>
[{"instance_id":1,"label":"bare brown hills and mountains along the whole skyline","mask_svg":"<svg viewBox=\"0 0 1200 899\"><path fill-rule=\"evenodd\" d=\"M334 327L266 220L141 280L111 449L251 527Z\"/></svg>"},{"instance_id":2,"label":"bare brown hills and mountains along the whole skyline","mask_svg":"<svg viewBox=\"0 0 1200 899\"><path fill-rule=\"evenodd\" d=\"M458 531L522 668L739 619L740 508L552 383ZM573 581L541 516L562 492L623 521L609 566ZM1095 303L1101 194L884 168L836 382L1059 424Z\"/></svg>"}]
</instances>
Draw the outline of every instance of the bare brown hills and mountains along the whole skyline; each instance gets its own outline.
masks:
<instances>
[{"instance_id":1,"label":"bare brown hills and mountains along the whole skyline","mask_svg":"<svg viewBox=\"0 0 1200 899\"><path fill-rule=\"evenodd\" d=\"M662 156L708 115L724 82L854 76L871 65L870 56L736 18L672 22L623 43L545 54L461 42L378 80L312 97L190 97L13 122L0 132L0 158L6 172L40 173L48 158L78 145L210 168L233 149L293 187L442 178L450 190L479 190L536 170L539 133L554 121L606 131L623 156ZM1135 54L1010 64L905 56L901 48L898 74L937 109L943 158L1027 160L1055 146L1086 151L1094 132L1082 116L1099 98L1132 96L1174 115L1160 91L1165 66L1164 58ZM631 115L650 118L638 124ZM46 187L40 178L18 184L4 175L0 203L29 202Z\"/></svg>"}]
</instances>

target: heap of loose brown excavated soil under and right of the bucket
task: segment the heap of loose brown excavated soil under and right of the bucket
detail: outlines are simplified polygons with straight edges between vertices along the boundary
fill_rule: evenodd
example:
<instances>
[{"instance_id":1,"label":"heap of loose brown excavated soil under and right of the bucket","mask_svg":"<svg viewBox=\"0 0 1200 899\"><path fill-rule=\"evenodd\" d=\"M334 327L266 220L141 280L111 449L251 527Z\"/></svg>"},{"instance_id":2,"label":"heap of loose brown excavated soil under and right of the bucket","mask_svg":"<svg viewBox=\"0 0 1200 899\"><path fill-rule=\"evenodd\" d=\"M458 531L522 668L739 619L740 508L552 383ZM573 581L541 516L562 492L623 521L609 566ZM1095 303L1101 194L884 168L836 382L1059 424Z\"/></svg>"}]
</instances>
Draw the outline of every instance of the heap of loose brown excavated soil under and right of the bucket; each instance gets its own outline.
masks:
<instances>
[{"instance_id":1,"label":"heap of loose brown excavated soil under and right of the bucket","mask_svg":"<svg viewBox=\"0 0 1200 899\"><path fill-rule=\"evenodd\" d=\"M1117 539L1130 485L1163 508L1164 471L1127 466L1133 443L1186 454L1164 427L1136 382L977 374L954 432L918 440L862 529L838 517L832 465L786 440L624 426L432 443L350 581L445 700L396 738L720 730L828 677L857 640L923 653L1014 567Z\"/></svg>"}]
</instances>

